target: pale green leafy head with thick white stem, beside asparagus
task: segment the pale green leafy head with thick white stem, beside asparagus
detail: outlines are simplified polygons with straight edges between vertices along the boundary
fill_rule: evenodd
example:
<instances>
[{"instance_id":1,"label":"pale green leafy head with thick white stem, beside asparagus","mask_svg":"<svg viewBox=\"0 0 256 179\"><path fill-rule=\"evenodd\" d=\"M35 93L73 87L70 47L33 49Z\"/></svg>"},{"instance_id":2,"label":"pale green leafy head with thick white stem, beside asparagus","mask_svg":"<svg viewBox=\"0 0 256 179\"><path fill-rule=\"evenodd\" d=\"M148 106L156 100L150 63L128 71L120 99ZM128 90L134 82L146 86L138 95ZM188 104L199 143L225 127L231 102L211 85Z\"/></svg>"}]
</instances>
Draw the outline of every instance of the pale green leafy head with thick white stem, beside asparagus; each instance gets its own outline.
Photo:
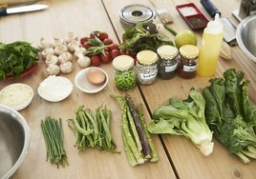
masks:
<instances>
[{"instance_id":1,"label":"pale green leafy head with thick white stem, beside asparagus","mask_svg":"<svg viewBox=\"0 0 256 179\"><path fill-rule=\"evenodd\" d=\"M213 151L212 132L204 118L205 101L196 89L185 100L171 98L169 104L155 109L147 129L155 134L182 135L205 156Z\"/></svg>"}]
</instances>

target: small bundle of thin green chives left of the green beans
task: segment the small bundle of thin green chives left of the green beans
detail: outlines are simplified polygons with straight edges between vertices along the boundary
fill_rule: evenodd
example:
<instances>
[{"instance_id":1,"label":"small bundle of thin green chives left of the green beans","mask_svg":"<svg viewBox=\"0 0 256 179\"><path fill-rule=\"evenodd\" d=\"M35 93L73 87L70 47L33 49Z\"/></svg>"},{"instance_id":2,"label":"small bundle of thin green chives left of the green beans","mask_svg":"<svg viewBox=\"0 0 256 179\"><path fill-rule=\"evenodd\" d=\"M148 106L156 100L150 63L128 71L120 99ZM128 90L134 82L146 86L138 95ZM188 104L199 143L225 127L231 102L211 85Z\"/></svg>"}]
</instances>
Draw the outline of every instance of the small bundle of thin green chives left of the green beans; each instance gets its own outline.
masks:
<instances>
[{"instance_id":1,"label":"small bundle of thin green chives left of the green beans","mask_svg":"<svg viewBox=\"0 0 256 179\"><path fill-rule=\"evenodd\" d=\"M52 164L59 166L68 166L68 157L64 149L64 133L62 128L62 120L58 120L47 116L45 120L41 120L41 129L44 135L47 160L50 159Z\"/></svg>"}]
</instances>

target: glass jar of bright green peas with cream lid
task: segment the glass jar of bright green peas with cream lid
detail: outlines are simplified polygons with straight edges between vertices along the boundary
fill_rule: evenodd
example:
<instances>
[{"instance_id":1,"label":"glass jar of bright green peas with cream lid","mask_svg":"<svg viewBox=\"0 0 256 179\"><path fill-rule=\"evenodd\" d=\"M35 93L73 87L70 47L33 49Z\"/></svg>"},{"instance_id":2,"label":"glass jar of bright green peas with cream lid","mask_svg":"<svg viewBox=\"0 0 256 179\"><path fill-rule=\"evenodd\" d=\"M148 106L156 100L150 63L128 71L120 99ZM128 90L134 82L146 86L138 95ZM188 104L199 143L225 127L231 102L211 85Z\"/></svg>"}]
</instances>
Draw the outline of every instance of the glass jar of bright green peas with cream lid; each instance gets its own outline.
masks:
<instances>
[{"instance_id":1,"label":"glass jar of bright green peas with cream lid","mask_svg":"<svg viewBox=\"0 0 256 179\"><path fill-rule=\"evenodd\" d=\"M117 89L133 89L137 83L134 59L129 55L119 55L113 60L112 65Z\"/></svg>"}]
</instances>

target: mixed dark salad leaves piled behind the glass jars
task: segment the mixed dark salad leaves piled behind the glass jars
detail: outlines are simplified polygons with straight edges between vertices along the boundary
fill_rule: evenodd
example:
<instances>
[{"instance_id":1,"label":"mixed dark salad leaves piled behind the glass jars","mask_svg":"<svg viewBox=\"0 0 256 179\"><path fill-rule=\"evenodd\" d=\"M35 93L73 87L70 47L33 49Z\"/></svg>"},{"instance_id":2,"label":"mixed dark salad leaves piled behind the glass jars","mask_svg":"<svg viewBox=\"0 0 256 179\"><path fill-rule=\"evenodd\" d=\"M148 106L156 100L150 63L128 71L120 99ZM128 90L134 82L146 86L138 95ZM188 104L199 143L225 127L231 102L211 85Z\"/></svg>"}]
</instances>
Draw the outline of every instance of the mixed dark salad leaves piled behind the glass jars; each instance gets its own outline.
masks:
<instances>
[{"instance_id":1,"label":"mixed dark salad leaves piled behind the glass jars","mask_svg":"<svg viewBox=\"0 0 256 179\"><path fill-rule=\"evenodd\" d=\"M161 45L173 45L167 37L158 33L154 23L138 23L132 29L126 29L119 49L129 55L136 55L140 50L156 51Z\"/></svg>"}]
</instances>

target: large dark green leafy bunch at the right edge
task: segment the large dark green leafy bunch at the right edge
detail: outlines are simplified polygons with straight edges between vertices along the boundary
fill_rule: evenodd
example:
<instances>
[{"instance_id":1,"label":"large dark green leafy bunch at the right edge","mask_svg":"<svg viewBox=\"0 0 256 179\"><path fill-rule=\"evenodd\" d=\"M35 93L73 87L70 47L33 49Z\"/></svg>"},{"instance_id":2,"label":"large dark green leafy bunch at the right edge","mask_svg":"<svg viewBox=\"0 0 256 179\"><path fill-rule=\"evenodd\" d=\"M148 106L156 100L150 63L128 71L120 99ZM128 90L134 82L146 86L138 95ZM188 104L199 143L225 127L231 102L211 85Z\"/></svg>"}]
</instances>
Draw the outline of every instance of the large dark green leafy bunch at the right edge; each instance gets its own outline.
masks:
<instances>
[{"instance_id":1,"label":"large dark green leafy bunch at the right edge","mask_svg":"<svg viewBox=\"0 0 256 179\"><path fill-rule=\"evenodd\" d=\"M255 107L248 100L245 73L229 69L224 78L212 78L203 89L205 118L214 136L244 163L256 158Z\"/></svg>"}]
</instances>

